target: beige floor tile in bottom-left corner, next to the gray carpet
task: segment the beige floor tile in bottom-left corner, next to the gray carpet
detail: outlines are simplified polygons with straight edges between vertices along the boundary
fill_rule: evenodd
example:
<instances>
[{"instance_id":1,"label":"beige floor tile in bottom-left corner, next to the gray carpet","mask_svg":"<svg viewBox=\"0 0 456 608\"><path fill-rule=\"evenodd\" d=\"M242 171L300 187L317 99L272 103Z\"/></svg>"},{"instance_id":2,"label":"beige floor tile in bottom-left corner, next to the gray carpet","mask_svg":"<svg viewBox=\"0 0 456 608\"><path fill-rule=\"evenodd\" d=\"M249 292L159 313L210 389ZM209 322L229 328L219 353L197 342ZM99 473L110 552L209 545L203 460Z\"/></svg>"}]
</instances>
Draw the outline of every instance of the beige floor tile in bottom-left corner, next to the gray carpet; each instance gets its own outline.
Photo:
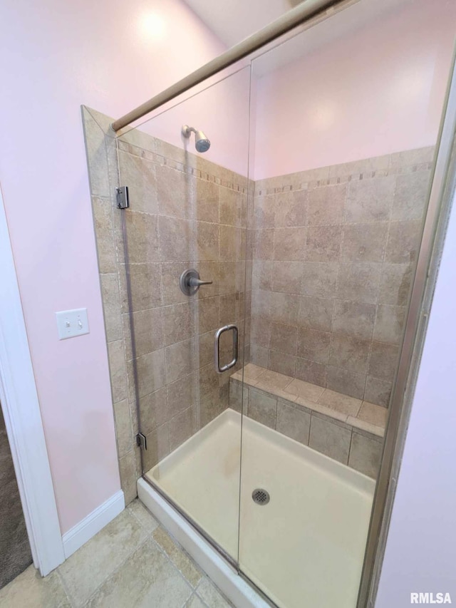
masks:
<instances>
[{"instance_id":1,"label":"beige floor tile in bottom-left corner, next to the gray carpet","mask_svg":"<svg viewBox=\"0 0 456 608\"><path fill-rule=\"evenodd\" d=\"M0 589L1 608L63 608L69 605L57 572L42 578L33 565Z\"/></svg>"}]
</instances>

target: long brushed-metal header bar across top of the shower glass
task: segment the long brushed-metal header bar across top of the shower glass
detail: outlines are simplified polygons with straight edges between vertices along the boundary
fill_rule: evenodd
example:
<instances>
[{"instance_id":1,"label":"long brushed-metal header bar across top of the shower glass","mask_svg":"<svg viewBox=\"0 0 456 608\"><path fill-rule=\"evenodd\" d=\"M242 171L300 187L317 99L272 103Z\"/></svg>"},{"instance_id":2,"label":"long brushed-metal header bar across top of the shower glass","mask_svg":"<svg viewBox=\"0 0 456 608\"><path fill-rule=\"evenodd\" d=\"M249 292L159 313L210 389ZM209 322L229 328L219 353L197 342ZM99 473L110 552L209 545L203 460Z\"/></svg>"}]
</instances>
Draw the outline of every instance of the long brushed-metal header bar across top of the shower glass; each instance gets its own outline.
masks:
<instances>
[{"instance_id":1,"label":"long brushed-metal header bar across top of the shower glass","mask_svg":"<svg viewBox=\"0 0 456 608\"><path fill-rule=\"evenodd\" d=\"M279 19L272 21L271 24L232 46L228 51L225 51L222 55L212 59L212 61L209 61L209 63L198 68L195 72L185 76L185 78L182 78L182 80L165 89L162 93L158 93L158 95L152 97L149 101L142 103L142 105L138 105L138 108L135 108L128 114L118 118L118 120L113 122L111 128L117 133L120 129L134 123L138 118L142 118L142 116L152 112L152 110L160 108L160 105L171 101L195 85L207 80L210 76L214 76L214 74L232 66L233 63L237 63L240 59L247 57L269 42L276 40L276 38L286 34L296 26L306 23L306 21L309 21L318 14L321 14L323 18L326 19L326 17L333 14L336 6L351 6L358 1L359 0L305 0L304 2L301 2L296 8L281 15ZM325 11L326 15L324 15Z\"/></svg>"}]
</instances>

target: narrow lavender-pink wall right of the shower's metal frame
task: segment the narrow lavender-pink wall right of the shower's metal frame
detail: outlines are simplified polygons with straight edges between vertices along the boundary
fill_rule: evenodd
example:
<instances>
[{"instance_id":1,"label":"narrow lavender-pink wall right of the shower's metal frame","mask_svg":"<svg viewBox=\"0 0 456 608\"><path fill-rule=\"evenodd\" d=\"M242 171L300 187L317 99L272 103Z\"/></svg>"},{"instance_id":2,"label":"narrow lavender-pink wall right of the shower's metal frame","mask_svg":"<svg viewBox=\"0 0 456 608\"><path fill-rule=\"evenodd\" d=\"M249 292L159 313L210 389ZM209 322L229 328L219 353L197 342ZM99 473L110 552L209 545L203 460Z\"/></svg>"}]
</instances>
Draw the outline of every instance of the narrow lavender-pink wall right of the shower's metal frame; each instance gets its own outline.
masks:
<instances>
[{"instance_id":1,"label":"narrow lavender-pink wall right of the shower's metal frame","mask_svg":"<svg viewBox=\"0 0 456 608\"><path fill-rule=\"evenodd\" d=\"M375 608L456 602L456 197L427 329Z\"/></svg>"}]
</instances>

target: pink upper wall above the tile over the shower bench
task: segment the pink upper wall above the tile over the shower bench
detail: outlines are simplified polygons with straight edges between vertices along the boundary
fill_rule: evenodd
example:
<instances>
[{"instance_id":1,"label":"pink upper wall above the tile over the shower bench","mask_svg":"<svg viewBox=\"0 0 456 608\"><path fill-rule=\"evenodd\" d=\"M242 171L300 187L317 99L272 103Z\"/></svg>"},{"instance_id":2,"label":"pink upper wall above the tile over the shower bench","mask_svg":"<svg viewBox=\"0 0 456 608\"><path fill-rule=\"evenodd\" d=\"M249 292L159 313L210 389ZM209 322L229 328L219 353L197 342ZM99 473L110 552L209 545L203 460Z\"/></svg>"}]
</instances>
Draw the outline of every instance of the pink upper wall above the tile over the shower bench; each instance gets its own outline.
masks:
<instances>
[{"instance_id":1,"label":"pink upper wall above the tile over the shower bench","mask_svg":"<svg viewBox=\"0 0 456 608\"><path fill-rule=\"evenodd\" d=\"M358 28L370 6L355 4L292 42L301 59L259 78L254 179L435 143L456 3L403 4Z\"/></svg>"}]
</instances>

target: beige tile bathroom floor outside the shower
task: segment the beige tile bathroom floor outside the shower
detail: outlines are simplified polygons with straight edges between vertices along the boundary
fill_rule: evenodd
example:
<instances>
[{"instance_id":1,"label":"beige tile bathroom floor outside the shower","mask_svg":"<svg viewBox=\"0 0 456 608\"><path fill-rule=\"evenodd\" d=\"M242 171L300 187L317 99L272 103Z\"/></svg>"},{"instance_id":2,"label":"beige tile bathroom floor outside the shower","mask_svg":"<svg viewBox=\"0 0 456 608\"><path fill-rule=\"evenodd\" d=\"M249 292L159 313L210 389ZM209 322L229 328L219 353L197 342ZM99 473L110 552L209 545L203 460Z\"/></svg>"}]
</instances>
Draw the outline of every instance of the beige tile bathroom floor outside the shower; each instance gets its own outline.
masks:
<instances>
[{"instance_id":1,"label":"beige tile bathroom floor outside the shower","mask_svg":"<svg viewBox=\"0 0 456 608\"><path fill-rule=\"evenodd\" d=\"M66 562L0 589L0 608L227 608L192 558L134 500Z\"/></svg>"}]
</instances>

